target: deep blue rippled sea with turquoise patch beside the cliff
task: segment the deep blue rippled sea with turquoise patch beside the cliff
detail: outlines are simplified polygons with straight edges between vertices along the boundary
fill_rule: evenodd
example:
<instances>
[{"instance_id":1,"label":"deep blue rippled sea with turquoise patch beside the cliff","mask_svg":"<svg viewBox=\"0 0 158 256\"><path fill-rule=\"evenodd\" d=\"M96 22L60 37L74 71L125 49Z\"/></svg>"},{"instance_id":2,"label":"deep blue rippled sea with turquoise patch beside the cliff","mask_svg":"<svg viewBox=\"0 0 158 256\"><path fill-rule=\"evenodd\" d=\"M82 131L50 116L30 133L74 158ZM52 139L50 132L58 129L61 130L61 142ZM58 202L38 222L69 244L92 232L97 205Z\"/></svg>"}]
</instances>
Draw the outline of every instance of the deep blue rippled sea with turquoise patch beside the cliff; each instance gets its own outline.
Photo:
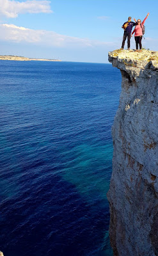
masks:
<instances>
[{"instance_id":1,"label":"deep blue rippled sea with turquoise patch beside the cliff","mask_svg":"<svg viewBox=\"0 0 158 256\"><path fill-rule=\"evenodd\" d=\"M0 61L0 250L109 256L110 64Z\"/></svg>"}]
</instances>

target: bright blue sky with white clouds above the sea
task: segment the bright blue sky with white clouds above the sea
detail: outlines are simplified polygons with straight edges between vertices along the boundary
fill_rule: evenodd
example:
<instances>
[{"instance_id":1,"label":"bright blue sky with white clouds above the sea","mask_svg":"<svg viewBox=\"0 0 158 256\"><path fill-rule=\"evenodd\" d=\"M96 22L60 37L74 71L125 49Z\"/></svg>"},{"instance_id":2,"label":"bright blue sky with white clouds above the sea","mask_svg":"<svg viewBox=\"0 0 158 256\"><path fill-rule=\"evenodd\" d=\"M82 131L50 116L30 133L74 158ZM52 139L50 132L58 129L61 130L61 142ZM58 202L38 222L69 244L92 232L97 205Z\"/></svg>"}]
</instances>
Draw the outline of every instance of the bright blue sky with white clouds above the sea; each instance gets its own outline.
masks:
<instances>
[{"instance_id":1,"label":"bright blue sky with white clouds above the sea","mask_svg":"<svg viewBox=\"0 0 158 256\"><path fill-rule=\"evenodd\" d=\"M148 12L142 45L158 51L157 10L157 0L0 0L0 55L108 63L122 24ZM135 49L134 37L130 43Z\"/></svg>"}]
</instances>

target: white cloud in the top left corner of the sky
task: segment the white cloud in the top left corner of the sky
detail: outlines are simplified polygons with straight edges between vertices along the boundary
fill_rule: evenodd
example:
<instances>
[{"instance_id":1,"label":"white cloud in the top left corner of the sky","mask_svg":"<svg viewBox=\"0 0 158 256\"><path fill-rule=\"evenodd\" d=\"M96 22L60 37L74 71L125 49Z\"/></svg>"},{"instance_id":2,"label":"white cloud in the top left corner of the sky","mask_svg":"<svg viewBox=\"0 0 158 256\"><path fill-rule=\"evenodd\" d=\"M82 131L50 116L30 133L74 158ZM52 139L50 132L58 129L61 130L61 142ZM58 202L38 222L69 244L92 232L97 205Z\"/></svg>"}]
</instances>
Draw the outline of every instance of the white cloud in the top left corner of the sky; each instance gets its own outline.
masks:
<instances>
[{"instance_id":1,"label":"white cloud in the top left corner of the sky","mask_svg":"<svg viewBox=\"0 0 158 256\"><path fill-rule=\"evenodd\" d=\"M0 0L0 14L15 18L19 13L51 13L51 1L28 0L26 2Z\"/></svg>"}]
</instances>

